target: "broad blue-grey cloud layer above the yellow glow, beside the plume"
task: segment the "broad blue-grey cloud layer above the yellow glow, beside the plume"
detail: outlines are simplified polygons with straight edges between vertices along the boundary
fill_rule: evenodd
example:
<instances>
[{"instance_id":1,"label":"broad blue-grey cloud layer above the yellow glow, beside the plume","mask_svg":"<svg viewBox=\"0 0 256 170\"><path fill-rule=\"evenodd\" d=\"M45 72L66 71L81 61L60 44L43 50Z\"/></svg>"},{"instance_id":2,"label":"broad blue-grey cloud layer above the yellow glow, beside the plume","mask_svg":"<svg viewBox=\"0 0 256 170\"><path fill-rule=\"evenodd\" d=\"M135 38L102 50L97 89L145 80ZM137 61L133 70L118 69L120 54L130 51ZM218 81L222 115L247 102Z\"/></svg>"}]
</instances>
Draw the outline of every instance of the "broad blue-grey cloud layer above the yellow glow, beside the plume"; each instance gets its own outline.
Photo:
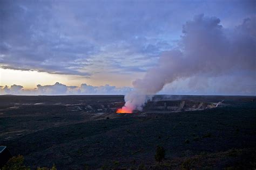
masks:
<instances>
[{"instance_id":1,"label":"broad blue-grey cloud layer above the yellow glow, beside the plume","mask_svg":"<svg viewBox=\"0 0 256 170\"><path fill-rule=\"evenodd\" d=\"M120 74L142 72L149 67L135 69L134 62L136 67L155 64L191 15L205 12L235 23L255 12L255 1L0 3L1 68L83 76L98 72L89 66L106 56L120 62ZM115 65L106 62L99 69L113 72Z\"/></svg>"}]
</instances>

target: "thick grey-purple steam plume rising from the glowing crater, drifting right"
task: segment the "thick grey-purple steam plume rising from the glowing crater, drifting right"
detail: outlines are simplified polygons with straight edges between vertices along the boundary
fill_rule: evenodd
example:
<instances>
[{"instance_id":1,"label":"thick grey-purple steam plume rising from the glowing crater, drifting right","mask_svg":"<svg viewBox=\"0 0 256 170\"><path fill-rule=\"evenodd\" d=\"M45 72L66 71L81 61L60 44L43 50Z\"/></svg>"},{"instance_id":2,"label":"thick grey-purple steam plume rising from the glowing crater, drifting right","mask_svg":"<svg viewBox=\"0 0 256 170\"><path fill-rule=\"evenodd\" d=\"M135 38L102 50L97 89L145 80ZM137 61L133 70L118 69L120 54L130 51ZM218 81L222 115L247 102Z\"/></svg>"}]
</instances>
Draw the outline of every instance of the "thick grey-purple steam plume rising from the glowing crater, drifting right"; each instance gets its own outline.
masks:
<instances>
[{"instance_id":1,"label":"thick grey-purple steam plume rising from the glowing crater, drifting right","mask_svg":"<svg viewBox=\"0 0 256 170\"><path fill-rule=\"evenodd\" d=\"M123 109L142 110L151 98L148 95L187 77L204 75L207 79L245 72L255 78L255 18L245 19L232 30L221 26L216 17L198 15L186 22L177 47L164 52L143 79L133 81L134 90L125 96Z\"/></svg>"}]
</instances>

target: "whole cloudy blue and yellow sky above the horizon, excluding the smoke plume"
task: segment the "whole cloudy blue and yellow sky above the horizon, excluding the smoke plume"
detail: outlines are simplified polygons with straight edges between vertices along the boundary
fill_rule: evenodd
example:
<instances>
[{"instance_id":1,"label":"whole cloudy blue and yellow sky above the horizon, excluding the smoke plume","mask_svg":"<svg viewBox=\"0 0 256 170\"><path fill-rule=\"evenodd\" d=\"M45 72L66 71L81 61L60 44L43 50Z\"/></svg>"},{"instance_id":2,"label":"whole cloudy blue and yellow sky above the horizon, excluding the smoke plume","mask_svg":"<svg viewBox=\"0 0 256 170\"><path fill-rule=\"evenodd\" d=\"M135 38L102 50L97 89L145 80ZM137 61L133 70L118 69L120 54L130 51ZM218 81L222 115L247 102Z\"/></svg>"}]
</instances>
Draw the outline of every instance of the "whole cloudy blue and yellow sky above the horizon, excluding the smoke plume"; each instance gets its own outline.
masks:
<instances>
[{"instance_id":1,"label":"whole cloudy blue and yellow sky above the horizon, excluding the smoke plume","mask_svg":"<svg viewBox=\"0 0 256 170\"><path fill-rule=\"evenodd\" d=\"M255 6L255 1L1 0L0 94L127 94L163 55L183 48L184 30L194 18L217 18L225 36L234 37L246 23L255 30ZM256 95L255 35L248 35L250 43L244 39L250 53L237 47L246 49L243 57L252 65L178 77L157 93Z\"/></svg>"}]
</instances>

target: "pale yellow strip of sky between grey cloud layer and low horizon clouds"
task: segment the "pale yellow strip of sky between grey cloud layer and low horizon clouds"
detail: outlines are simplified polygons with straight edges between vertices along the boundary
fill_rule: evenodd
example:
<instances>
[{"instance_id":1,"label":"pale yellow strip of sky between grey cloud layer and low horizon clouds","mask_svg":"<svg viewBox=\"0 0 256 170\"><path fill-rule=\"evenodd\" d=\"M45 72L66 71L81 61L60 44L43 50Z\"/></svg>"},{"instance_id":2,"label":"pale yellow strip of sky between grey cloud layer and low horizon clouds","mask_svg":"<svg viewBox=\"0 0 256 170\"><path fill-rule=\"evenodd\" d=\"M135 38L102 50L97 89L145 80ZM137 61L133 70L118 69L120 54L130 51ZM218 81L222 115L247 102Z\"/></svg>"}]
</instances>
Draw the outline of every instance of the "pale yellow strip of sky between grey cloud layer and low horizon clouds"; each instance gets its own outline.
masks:
<instances>
[{"instance_id":1,"label":"pale yellow strip of sky between grey cloud layer and low horizon clouds","mask_svg":"<svg viewBox=\"0 0 256 170\"><path fill-rule=\"evenodd\" d=\"M34 89L37 84L52 85L56 82L65 84L67 86L80 86L86 83L91 86L104 86L110 84L111 86L123 87L132 85L134 77L140 77L140 74L134 75L120 75L118 73L97 73L93 74L91 78L77 76L77 75L62 75L50 74L37 71L23 71L13 69L0 68L0 86L11 86L13 84L21 85L24 89Z\"/></svg>"}]
</instances>

